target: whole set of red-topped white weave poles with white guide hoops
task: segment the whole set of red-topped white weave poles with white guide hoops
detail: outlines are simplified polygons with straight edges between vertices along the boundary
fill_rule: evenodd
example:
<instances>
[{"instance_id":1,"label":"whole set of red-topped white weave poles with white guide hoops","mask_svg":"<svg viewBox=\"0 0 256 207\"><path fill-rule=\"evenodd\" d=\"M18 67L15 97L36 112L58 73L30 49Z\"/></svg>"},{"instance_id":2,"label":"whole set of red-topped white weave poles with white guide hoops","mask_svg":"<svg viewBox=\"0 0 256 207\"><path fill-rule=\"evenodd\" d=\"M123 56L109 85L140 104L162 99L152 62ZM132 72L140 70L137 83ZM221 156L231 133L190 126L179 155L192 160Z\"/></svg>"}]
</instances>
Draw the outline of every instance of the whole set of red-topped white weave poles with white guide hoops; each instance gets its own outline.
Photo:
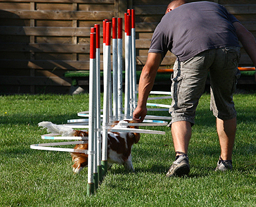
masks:
<instances>
[{"instance_id":1,"label":"whole set of red-topped white weave poles with white guide hoops","mask_svg":"<svg viewBox=\"0 0 256 207\"><path fill-rule=\"evenodd\" d=\"M113 31L112 61L113 83L111 83L111 29ZM66 139L66 141L47 144L32 144L30 148L37 150L53 150L62 152L82 152L88 155L88 184L87 195L92 195L98 184L107 173L107 133L136 132L164 135L165 132L131 128L111 129L113 121L131 118L136 108L136 52L135 52L135 12L125 13L125 108L122 107L122 18L113 17L103 21L103 72L104 97L103 110L100 109L100 25L95 24L90 34L90 68L89 68L89 111L77 113L80 117L89 119L71 119L64 126L70 128L88 128L89 137L60 137L57 134L42 135L42 139ZM152 92L166 94L170 92ZM112 100L113 95L113 100ZM170 98L170 97L167 97ZM148 106L169 108L164 104L148 103ZM124 114L122 111L124 110ZM101 111L103 111L101 115ZM89 114L88 114L89 113ZM102 118L102 120L101 120ZM143 123L123 124L127 126L166 126L167 121L148 119L170 119L170 117L146 116ZM88 125L84 125L88 124ZM102 137L101 137L102 136ZM88 143L88 150L73 148L56 148ZM54 146L54 147L53 147Z\"/></svg>"}]
</instances>

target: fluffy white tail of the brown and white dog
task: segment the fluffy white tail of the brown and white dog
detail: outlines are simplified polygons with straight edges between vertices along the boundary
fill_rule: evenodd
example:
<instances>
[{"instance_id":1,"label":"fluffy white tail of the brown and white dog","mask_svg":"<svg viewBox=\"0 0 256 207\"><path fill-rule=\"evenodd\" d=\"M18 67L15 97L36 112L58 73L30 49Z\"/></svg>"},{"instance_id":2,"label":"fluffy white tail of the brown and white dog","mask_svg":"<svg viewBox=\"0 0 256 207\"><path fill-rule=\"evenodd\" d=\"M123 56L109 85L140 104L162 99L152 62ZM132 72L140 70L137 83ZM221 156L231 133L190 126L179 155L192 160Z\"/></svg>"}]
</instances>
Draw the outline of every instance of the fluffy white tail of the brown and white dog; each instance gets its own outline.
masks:
<instances>
[{"instance_id":1,"label":"fluffy white tail of the brown and white dog","mask_svg":"<svg viewBox=\"0 0 256 207\"><path fill-rule=\"evenodd\" d=\"M42 121L38 124L38 126L42 126L42 128L47 128L48 132L57 133L64 137L71 137L75 135L75 130L73 130L73 128L53 124L51 123L51 121Z\"/></svg>"}]
</instances>

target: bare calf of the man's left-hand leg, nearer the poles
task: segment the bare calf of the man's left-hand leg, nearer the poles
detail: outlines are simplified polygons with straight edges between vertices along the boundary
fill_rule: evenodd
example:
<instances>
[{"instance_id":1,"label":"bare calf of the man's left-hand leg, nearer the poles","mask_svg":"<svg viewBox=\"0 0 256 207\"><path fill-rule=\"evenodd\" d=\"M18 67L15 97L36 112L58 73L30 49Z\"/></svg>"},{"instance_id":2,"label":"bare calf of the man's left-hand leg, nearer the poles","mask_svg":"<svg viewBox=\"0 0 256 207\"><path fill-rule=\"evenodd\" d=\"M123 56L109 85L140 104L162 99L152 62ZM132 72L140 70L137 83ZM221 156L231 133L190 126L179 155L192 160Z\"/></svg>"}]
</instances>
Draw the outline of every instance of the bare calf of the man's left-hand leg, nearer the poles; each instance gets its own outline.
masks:
<instances>
[{"instance_id":1,"label":"bare calf of the man's left-hand leg, nearer the poles","mask_svg":"<svg viewBox=\"0 0 256 207\"><path fill-rule=\"evenodd\" d=\"M176 121L172 124L172 139L176 155L188 154L188 144L192 133L188 121Z\"/></svg>"}]
</instances>

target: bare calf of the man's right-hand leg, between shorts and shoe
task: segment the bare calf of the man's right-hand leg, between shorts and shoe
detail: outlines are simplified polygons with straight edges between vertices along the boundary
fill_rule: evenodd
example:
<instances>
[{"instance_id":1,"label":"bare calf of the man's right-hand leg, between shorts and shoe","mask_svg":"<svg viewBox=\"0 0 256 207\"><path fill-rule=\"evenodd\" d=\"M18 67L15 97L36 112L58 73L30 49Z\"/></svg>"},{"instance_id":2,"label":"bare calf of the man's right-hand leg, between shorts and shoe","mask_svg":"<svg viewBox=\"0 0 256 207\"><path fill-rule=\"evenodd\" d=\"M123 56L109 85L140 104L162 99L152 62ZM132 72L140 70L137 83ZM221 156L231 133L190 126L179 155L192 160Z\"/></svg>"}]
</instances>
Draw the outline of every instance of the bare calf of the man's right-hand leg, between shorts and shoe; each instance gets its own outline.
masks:
<instances>
[{"instance_id":1,"label":"bare calf of the man's right-hand leg, between shorts and shoe","mask_svg":"<svg viewBox=\"0 0 256 207\"><path fill-rule=\"evenodd\" d=\"M237 130L237 117L229 120L217 118L216 122L219 144L221 146L221 158L223 160L231 160L235 143L235 132Z\"/></svg>"}]
</instances>

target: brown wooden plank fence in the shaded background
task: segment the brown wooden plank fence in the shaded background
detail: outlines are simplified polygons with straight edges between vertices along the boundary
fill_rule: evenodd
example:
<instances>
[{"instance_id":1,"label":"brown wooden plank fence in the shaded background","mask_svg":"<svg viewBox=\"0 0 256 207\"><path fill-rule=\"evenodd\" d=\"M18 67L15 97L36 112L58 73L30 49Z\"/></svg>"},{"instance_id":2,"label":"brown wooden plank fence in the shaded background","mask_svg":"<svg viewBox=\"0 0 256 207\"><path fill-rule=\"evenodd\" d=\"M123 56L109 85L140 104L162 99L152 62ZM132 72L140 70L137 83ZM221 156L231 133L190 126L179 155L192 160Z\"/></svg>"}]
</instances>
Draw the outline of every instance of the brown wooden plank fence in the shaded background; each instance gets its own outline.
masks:
<instances>
[{"instance_id":1,"label":"brown wooden plank fence in the shaded background","mask_svg":"<svg viewBox=\"0 0 256 207\"><path fill-rule=\"evenodd\" d=\"M89 33L102 19L136 10L136 59L147 59L154 28L168 0L0 0L0 93L68 93L68 70L89 69ZM214 0L256 36L255 0ZM102 35L102 34L101 34ZM101 40L102 41L102 40ZM242 51L240 64L252 66ZM102 60L102 58L101 58ZM171 52L160 68L172 68Z\"/></svg>"}]
</instances>

